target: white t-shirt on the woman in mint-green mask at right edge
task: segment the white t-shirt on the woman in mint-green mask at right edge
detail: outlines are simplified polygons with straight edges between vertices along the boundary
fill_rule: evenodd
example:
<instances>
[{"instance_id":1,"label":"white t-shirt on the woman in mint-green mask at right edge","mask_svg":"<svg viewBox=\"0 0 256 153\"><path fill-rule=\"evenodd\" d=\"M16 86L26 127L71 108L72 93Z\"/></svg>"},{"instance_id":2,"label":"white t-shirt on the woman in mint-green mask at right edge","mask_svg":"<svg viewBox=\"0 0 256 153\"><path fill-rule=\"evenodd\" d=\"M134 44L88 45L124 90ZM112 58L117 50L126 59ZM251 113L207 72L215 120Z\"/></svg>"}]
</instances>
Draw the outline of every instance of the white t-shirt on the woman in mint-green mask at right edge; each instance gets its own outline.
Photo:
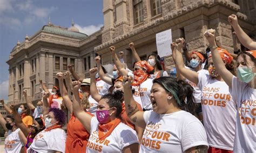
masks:
<instances>
[{"instance_id":1,"label":"white t-shirt on the woman in mint-green mask at right edge","mask_svg":"<svg viewBox=\"0 0 256 153\"><path fill-rule=\"evenodd\" d=\"M234 152L256 151L255 115L256 89L241 82L237 77L232 80L232 96L237 102L237 124L235 128Z\"/></svg>"}]
</instances>

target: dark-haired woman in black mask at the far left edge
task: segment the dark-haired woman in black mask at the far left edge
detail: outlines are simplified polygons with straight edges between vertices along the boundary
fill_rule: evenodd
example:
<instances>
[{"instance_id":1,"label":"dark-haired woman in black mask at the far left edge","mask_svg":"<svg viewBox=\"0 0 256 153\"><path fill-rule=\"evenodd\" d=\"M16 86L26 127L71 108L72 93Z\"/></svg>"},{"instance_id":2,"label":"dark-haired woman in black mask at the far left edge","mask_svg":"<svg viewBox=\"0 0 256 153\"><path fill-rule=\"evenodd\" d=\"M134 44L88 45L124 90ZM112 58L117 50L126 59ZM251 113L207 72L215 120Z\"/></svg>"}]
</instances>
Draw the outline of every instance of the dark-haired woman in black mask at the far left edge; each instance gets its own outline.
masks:
<instances>
[{"instance_id":1,"label":"dark-haired woman in black mask at the far left edge","mask_svg":"<svg viewBox=\"0 0 256 153\"><path fill-rule=\"evenodd\" d=\"M4 120L0 113L0 123L4 130L9 133L4 141L4 152L21 152L22 146L26 144L26 137L16 126L14 116L9 114Z\"/></svg>"}]
</instances>

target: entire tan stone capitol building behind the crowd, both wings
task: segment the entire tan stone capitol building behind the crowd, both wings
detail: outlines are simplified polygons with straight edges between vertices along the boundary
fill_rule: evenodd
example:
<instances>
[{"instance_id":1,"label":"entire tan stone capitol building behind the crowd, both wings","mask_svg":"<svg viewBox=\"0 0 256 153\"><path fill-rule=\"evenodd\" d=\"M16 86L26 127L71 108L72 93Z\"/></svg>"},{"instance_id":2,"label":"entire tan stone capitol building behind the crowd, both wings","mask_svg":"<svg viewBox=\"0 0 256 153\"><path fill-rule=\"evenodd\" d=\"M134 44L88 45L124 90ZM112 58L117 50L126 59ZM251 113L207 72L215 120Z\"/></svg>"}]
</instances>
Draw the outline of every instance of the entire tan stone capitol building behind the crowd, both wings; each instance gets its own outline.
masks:
<instances>
[{"instance_id":1,"label":"entire tan stone capitol building behind the crowd, both wings","mask_svg":"<svg viewBox=\"0 0 256 153\"><path fill-rule=\"evenodd\" d=\"M87 36L72 23L66 28L42 25L33 36L17 43L6 61L9 65L9 103L23 103L23 89L33 102L41 99L39 78L51 89L58 86L57 72L65 72L72 64L80 77L89 77L95 56L102 64L112 64L109 46L124 52L124 61L131 68L134 59L129 43L133 42L141 59L157 52L156 33L172 29L172 39L184 37L188 50L204 49L204 31L217 31L216 39L233 52L232 27L227 17L235 14L247 34L256 34L255 0L104 0L104 26ZM244 50L241 45L241 50ZM167 72L173 67L172 57L165 57Z\"/></svg>"}]
</instances>

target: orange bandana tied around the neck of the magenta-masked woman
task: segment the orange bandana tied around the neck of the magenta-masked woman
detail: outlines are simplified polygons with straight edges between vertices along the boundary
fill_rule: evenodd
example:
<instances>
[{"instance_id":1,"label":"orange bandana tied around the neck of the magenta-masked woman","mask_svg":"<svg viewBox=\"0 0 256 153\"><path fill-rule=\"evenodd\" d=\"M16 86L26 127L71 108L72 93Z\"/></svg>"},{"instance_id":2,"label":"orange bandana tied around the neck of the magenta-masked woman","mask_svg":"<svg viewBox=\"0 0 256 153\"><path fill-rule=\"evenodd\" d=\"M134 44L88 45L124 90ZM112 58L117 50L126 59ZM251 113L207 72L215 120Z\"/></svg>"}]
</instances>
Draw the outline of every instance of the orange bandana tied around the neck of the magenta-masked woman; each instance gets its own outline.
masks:
<instances>
[{"instance_id":1,"label":"orange bandana tied around the neck of the magenta-masked woman","mask_svg":"<svg viewBox=\"0 0 256 153\"><path fill-rule=\"evenodd\" d=\"M108 137L120 122L121 120L116 118L109 123L99 124L99 140L103 140Z\"/></svg>"}]
</instances>

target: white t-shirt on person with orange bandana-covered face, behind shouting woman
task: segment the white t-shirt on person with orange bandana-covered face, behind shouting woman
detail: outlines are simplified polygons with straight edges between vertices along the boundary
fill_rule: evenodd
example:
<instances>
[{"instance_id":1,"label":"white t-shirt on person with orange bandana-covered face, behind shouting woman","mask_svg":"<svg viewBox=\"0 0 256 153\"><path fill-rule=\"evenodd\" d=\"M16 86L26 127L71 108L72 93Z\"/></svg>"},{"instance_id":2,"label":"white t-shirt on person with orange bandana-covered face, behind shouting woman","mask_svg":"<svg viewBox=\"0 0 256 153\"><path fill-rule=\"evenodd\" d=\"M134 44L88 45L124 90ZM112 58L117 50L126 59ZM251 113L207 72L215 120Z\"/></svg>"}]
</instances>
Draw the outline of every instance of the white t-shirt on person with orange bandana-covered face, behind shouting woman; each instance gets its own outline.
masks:
<instances>
[{"instance_id":1,"label":"white t-shirt on person with orange bandana-covered face, behind shouting woman","mask_svg":"<svg viewBox=\"0 0 256 153\"><path fill-rule=\"evenodd\" d=\"M142 99L143 106L142 108L146 110L150 110L152 108L152 103L150 101L150 91L153 85L153 80L154 79L148 78L146 81L139 85L140 99Z\"/></svg>"}]
</instances>

